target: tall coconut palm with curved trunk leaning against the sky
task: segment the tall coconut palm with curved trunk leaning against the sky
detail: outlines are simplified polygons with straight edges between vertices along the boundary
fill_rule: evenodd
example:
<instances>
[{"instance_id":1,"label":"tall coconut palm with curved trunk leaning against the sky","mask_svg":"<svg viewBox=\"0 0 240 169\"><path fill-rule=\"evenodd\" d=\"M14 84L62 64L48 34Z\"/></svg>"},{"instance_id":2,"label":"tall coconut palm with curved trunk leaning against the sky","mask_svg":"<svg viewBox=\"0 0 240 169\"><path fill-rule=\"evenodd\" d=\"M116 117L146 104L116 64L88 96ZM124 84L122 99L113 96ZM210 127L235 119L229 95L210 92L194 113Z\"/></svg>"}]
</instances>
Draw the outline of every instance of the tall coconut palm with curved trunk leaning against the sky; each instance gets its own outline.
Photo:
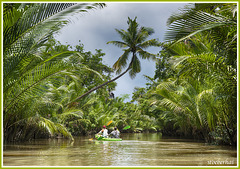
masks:
<instances>
[{"instance_id":1,"label":"tall coconut palm with curved trunk leaning against the sky","mask_svg":"<svg viewBox=\"0 0 240 169\"><path fill-rule=\"evenodd\" d=\"M142 59L154 59L156 55L147 52L145 49L151 46L159 47L161 44L156 39L147 40L147 38L154 33L152 28L140 27L136 21L136 17L134 20L128 18L128 29L126 30L119 30L116 29L117 33L120 35L123 41L110 41L107 44L114 44L123 49L124 53L119 59L114 63L113 68L116 70L117 77L113 78L110 81L107 81L99 86L96 86L89 90L88 92L84 93L83 95L76 98L76 100L81 99L82 97L88 95L89 93L117 80L118 78L122 77L124 74L129 72L130 77L134 78L137 73L141 71L140 60L137 55L140 56ZM132 53L131 61L128 65L127 60L129 58L130 53ZM122 69L128 65L127 69L121 73ZM121 73L121 74L120 74ZM75 100L75 101L76 101Z\"/></svg>"}]
</instances>

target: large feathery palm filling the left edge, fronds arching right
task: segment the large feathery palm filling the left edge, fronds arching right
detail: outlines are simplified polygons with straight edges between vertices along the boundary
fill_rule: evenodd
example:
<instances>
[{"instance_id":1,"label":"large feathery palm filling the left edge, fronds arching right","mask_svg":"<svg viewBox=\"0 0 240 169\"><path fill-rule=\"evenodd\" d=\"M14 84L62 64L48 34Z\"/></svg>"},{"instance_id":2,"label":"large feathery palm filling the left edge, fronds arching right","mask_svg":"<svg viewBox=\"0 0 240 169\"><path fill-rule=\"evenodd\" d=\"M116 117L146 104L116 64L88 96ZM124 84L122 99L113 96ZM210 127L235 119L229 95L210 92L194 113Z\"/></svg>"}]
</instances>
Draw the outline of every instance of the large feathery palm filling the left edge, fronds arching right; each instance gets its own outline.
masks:
<instances>
[{"instance_id":1,"label":"large feathery palm filling the left edge, fronds arching right","mask_svg":"<svg viewBox=\"0 0 240 169\"><path fill-rule=\"evenodd\" d=\"M61 51L45 55L41 49L54 33L69 22L69 14L84 12L97 6L102 7L103 4L3 4L3 125L5 137L12 136L13 130L16 130L14 133L19 135L24 129L19 128L17 124L20 121L27 121L24 119L36 116L37 112L33 112L31 107L45 94L47 80L56 78L60 74L72 74L70 72L72 65L67 64L63 58L75 54L74 52ZM52 126L52 123L45 124L49 126L42 126L46 128Z\"/></svg>"}]
</instances>

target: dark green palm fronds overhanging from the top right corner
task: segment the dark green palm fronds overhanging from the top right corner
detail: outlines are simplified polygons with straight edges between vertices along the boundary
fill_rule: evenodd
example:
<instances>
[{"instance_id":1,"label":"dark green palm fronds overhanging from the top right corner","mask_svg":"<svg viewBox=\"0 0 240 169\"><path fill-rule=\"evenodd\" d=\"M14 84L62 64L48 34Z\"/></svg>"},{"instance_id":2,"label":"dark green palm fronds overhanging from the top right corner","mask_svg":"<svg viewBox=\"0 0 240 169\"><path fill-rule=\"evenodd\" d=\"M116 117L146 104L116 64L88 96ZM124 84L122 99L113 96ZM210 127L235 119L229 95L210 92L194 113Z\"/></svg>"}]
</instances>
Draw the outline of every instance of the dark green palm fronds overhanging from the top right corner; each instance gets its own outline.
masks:
<instances>
[{"instance_id":1,"label":"dark green palm fronds overhanging from the top right corner","mask_svg":"<svg viewBox=\"0 0 240 169\"><path fill-rule=\"evenodd\" d=\"M188 41L199 33L214 41L215 51L221 54L228 65L237 67L237 15L236 3L194 4L172 15L166 41L173 44Z\"/></svg>"}]
</instances>

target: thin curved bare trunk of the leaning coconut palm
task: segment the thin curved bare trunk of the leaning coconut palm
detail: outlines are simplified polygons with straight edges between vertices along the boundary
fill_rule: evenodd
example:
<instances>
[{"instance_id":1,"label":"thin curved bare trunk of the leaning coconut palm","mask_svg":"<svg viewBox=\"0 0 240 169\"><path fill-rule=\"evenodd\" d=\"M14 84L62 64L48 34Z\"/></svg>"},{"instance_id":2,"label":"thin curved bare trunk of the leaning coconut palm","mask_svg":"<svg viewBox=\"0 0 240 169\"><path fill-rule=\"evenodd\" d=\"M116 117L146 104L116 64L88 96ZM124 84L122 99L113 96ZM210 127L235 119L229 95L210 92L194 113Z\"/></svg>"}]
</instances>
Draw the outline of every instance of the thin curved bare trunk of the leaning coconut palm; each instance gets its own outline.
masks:
<instances>
[{"instance_id":1,"label":"thin curved bare trunk of the leaning coconut palm","mask_svg":"<svg viewBox=\"0 0 240 169\"><path fill-rule=\"evenodd\" d=\"M111 79L111 80L109 80L109 81L107 81L107 82L105 82L105 83L103 83L103 84L101 84L101 85L99 85L99 86L96 86L96 87L92 88L91 90L87 91L87 92L84 93L83 95L79 96L78 98L76 98L75 100L67 103L67 104L64 105L64 106L68 106L68 105L71 104L72 102L76 102L77 100L79 100L79 99L83 98L84 96L92 93L93 91L95 91L95 90L97 90L97 89L99 89L99 88L107 85L108 83L111 83L111 82L119 79L120 77L122 77L124 74L126 74L126 73L131 69L131 66L132 66L132 63L133 63L134 59L135 59L135 57L134 57L134 55L133 55L132 60L131 60L131 63L129 64L128 68L127 68L123 73L121 73L119 76L117 76L117 77L115 77L115 78L113 78L113 79Z\"/></svg>"}]
</instances>

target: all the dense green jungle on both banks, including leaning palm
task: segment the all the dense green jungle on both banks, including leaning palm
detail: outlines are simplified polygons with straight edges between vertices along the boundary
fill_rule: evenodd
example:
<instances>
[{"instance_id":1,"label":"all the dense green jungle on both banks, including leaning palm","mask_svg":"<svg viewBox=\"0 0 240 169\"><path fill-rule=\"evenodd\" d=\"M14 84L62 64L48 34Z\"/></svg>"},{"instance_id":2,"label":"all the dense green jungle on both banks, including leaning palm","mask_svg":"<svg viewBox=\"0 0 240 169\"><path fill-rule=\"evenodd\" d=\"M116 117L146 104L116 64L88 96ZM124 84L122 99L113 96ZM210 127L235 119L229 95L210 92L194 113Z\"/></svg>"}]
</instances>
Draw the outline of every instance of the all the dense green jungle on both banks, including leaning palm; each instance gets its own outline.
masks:
<instances>
[{"instance_id":1,"label":"all the dense green jungle on both banks, including leaning palm","mask_svg":"<svg viewBox=\"0 0 240 169\"><path fill-rule=\"evenodd\" d=\"M122 41L109 42L124 48L113 68L103 64L101 49L91 53L81 41L69 46L53 38L69 14L104 4L3 5L6 141L73 139L113 121L110 130L117 126L122 132L161 132L236 145L236 4L187 6L168 19L162 43L148 40L153 29L128 18L127 30L116 29ZM160 52L148 53L150 46ZM114 81L127 72L132 78L140 72L138 56L156 60L155 76L145 76L146 87L135 88L132 101L126 102L128 95L114 97ZM119 76L112 78L115 71ZM131 128L123 130L127 125Z\"/></svg>"}]
</instances>

